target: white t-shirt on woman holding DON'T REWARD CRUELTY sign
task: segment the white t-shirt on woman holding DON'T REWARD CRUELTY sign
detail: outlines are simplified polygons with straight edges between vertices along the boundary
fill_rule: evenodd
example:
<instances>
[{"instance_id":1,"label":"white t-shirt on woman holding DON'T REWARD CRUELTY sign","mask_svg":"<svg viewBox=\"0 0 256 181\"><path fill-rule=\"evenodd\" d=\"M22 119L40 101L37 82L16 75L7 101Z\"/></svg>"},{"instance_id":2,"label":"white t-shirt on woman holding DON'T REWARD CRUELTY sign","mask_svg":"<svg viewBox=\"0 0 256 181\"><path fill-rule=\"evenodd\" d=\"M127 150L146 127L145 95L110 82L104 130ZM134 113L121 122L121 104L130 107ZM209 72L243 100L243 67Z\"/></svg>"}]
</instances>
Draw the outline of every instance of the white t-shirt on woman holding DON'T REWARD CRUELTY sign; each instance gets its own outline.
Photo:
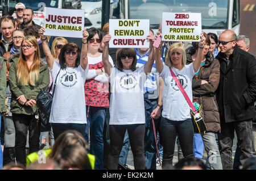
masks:
<instances>
[{"instance_id":1,"label":"white t-shirt on woman holding DON'T REWARD CRUELTY sign","mask_svg":"<svg viewBox=\"0 0 256 181\"><path fill-rule=\"evenodd\" d=\"M146 79L144 66L135 71L112 68L110 125L145 123L143 87Z\"/></svg>"}]
</instances>

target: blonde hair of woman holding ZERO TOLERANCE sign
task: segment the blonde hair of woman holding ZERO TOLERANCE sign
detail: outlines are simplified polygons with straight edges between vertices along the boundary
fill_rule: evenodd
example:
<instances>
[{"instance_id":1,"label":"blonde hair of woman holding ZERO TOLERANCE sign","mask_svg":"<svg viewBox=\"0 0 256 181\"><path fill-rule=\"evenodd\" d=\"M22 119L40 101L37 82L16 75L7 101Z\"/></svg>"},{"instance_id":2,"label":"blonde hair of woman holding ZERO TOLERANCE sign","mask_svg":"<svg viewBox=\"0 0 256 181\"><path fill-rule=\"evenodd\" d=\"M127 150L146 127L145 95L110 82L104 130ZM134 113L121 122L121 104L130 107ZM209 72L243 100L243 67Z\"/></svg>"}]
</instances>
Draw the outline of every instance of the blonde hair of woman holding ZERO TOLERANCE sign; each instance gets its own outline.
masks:
<instances>
[{"instance_id":1,"label":"blonde hair of woman holding ZERO TOLERANCE sign","mask_svg":"<svg viewBox=\"0 0 256 181\"><path fill-rule=\"evenodd\" d=\"M182 68L184 68L184 66L186 65L187 62L187 56L186 56L186 52L185 52L185 48L183 47L183 45L181 45L180 43L174 43L171 45L171 47L168 49L167 55L166 55L166 60L164 61L164 63L171 69L172 68L172 61L171 61L171 54L172 52L174 52L176 49L180 48L182 50Z\"/></svg>"}]
</instances>

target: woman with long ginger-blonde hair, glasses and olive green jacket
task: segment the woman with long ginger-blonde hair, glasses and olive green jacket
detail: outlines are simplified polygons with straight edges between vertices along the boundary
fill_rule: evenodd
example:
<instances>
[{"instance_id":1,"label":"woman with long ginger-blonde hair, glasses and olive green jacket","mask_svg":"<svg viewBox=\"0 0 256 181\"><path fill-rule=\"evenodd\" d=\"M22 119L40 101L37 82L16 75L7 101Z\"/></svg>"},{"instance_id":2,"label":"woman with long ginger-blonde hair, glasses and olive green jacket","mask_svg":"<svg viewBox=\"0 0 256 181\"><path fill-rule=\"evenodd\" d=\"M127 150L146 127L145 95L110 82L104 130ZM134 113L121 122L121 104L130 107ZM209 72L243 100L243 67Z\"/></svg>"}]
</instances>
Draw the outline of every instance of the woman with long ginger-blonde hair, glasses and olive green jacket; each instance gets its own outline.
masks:
<instances>
[{"instance_id":1,"label":"woman with long ginger-blonde hair, glasses and olive green jacket","mask_svg":"<svg viewBox=\"0 0 256 181\"><path fill-rule=\"evenodd\" d=\"M11 112L15 127L16 161L26 164L26 140L29 132L29 153L39 150L40 122L36 96L47 89L49 70L40 64L38 41L34 36L22 40L18 60L11 63L9 72Z\"/></svg>"}]
</instances>

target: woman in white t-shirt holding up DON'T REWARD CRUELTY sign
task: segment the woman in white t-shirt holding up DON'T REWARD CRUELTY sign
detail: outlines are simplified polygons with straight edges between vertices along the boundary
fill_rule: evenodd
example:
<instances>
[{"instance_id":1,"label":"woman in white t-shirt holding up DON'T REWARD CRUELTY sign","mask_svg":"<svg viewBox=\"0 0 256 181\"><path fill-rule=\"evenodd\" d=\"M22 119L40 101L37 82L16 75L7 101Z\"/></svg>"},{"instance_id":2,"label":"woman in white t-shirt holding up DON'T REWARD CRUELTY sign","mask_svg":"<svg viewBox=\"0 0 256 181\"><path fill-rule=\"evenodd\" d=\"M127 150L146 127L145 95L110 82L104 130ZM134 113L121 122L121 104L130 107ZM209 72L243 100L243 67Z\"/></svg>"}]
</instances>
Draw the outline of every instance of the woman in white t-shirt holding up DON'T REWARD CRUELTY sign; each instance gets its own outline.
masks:
<instances>
[{"instance_id":1,"label":"woman in white t-shirt holding up DON'T REWARD CRUELTY sign","mask_svg":"<svg viewBox=\"0 0 256 181\"><path fill-rule=\"evenodd\" d=\"M145 132L145 111L143 86L147 74L151 72L154 64L155 49L152 47L154 36L147 36L151 48L148 61L136 68L137 56L134 48L120 48L117 50L117 68L109 62L108 44L111 35L105 35L103 42L102 60L109 82L112 86L110 98L110 151L108 169L117 169L119 154L122 150L123 137L126 129L129 133L131 150L134 156L135 169L145 169L143 141Z\"/></svg>"}]
</instances>

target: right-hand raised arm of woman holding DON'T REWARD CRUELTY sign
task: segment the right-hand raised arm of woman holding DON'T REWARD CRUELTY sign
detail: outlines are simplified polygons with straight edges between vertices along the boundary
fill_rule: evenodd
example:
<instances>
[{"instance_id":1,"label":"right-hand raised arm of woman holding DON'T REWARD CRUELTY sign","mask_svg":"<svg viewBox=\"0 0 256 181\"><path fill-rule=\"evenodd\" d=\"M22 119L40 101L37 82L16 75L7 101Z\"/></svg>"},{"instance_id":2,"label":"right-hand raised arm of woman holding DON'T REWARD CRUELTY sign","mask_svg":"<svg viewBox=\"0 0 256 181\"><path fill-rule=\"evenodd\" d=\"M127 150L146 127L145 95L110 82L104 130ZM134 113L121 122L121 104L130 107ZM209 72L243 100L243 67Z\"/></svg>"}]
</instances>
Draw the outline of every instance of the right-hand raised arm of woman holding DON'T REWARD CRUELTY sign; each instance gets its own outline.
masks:
<instances>
[{"instance_id":1,"label":"right-hand raised arm of woman holding DON'T REWARD CRUELTY sign","mask_svg":"<svg viewBox=\"0 0 256 181\"><path fill-rule=\"evenodd\" d=\"M151 73L152 66L155 61L155 47L153 47L155 37L154 35L148 35L147 39L150 40L150 52L148 54L148 60L144 64L144 72L145 74Z\"/></svg>"}]
</instances>

